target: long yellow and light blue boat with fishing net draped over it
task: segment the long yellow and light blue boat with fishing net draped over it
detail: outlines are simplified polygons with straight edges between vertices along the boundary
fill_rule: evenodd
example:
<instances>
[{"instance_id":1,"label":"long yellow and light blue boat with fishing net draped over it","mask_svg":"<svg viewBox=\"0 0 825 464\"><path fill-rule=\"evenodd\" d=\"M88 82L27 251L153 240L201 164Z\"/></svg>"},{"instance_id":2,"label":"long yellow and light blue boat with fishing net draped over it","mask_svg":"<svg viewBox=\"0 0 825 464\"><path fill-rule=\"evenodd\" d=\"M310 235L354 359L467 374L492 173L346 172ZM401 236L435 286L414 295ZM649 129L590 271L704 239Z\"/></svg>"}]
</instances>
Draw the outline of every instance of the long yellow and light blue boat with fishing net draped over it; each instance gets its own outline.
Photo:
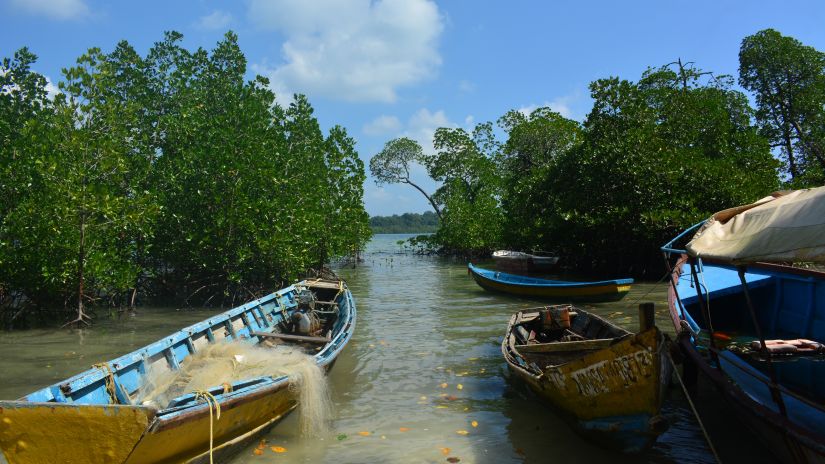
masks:
<instances>
[{"instance_id":1,"label":"long yellow and light blue boat with fishing net draped over it","mask_svg":"<svg viewBox=\"0 0 825 464\"><path fill-rule=\"evenodd\" d=\"M315 321L310 335L297 330L305 316ZM184 462L228 452L296 407L288 376L247 378L147 405L136 400L147 373L177 370L210 344L267 339L306 346L328 369L352 337L355 318L343 281L296 283L20 400L0 401L0 449L15 464ZM220 419L213 417L218 410Z\"/></svg>"}]
</instances>

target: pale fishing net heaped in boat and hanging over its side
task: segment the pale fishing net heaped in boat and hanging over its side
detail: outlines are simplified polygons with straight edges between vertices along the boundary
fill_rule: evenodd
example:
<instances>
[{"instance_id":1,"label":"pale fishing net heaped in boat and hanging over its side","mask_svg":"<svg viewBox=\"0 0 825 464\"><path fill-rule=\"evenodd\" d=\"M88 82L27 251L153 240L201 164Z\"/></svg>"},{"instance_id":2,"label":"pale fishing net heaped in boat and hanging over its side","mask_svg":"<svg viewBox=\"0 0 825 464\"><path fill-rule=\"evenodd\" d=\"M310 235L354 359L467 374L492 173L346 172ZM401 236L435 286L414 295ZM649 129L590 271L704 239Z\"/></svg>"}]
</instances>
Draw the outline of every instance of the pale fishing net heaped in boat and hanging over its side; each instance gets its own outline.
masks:
<instances>
[{"instance_id":1,"label":"pale fishing net heaped in boat and hanging over its side","mask_svg":"<svg viewBox=\"0 0 825 464\"><path fill-rule=\"evenodd\" d=\"M156 363L157 364L157 363ZM331 401L323 370L315 358L298 348L264 348L245 343L207 345L181 363L180 369L151 367L138 401L165 407L171 400L195 390L262 376L289 376L289 388L298 397L301 432L326 432Z\"/></svg>"}]
</instances>

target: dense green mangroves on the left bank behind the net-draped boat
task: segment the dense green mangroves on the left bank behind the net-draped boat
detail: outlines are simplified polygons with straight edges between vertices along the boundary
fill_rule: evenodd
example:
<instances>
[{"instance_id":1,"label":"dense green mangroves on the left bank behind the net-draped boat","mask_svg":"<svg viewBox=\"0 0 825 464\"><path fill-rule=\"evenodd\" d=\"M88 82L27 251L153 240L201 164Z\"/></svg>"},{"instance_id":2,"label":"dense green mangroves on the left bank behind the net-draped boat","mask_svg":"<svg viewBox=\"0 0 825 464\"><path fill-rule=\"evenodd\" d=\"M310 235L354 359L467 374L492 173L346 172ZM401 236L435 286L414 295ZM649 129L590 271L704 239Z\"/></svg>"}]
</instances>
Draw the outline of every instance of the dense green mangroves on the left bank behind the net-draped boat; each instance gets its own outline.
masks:
<instances>
[{"instance_id":1,"label":"dense green mangroves on the left bank behind the net-draped boat","mask_svg":"<svg viewBox=\"0 0 825 464\"><path fill-rule=\"evenodd\" d=\"M231 303L368 240L346 130L245 81L233 33L211 52L181 39L90 49L53 102L32 54L4 60L0 297L77 301L79 320L136 291Z\"/></svg>"}]
</instances>

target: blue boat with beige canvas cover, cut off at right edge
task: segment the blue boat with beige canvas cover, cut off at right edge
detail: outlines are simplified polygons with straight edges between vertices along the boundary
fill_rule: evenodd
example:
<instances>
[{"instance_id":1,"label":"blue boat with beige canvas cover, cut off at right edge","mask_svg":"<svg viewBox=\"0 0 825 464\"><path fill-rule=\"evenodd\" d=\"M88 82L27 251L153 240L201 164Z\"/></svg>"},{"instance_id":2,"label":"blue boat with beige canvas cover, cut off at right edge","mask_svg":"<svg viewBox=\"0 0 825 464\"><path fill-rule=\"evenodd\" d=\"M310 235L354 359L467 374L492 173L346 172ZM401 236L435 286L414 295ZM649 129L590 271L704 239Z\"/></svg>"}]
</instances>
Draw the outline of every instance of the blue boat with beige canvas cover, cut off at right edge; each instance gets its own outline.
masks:
<instances>
[{"instance_id":1,"label":"blue boat with beige canvas cover, cut off at right edge","mask_svg":"<svg viewBox=\"0 0 825 464\"><path fill-rule=\"evenodd\" d=\"M662 250L686 367L779 460L825 462L825 187L721 211Z\"/></svg>"}]
</instances>

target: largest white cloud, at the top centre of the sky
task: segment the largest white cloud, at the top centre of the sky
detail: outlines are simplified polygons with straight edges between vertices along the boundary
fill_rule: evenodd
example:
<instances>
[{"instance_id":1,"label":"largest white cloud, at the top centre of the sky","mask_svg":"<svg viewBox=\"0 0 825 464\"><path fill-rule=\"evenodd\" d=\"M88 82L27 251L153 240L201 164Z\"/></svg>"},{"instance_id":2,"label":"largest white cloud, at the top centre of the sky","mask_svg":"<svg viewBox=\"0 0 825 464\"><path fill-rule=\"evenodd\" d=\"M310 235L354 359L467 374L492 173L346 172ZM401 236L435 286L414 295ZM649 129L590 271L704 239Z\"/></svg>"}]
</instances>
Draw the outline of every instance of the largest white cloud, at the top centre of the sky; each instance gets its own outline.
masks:
<instances>
[{"instance_id":1,"label":"largest white cloud, at the top centre of the sky","mask_svg":"<svg viewBox=\"0 0 825 464\"><path fill-rule=\"evenodd\" d=\"M249 16L285 36L284 62L258 67L279 94L393 102L441 64L431 0L252 0Z\"/></svg>"}]
</instances>

